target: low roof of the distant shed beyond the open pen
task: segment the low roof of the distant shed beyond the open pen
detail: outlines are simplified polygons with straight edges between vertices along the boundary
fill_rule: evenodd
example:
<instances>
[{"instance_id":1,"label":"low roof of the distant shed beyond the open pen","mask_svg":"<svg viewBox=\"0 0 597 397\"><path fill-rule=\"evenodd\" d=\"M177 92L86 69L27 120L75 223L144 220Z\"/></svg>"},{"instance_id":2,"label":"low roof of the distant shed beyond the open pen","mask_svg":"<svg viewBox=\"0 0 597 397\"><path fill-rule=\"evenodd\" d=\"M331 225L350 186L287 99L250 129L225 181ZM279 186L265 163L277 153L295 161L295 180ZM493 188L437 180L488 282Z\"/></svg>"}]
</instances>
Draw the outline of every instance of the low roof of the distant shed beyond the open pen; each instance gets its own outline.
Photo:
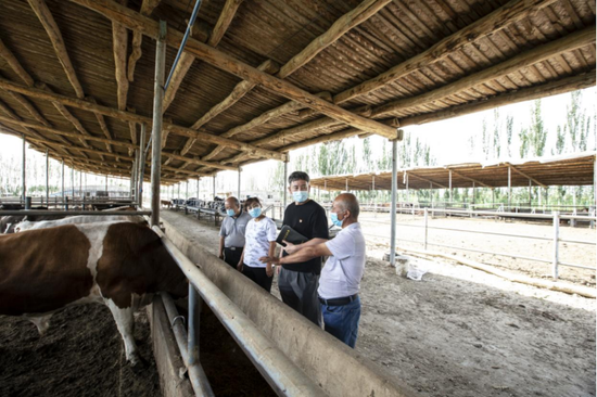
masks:
<instances>
[{"instance_id":1,"label":"low roof of the distant shed beyond the open pen","mask_svg":"<svg viewBox=\"0 0 597 397\"><path fill-rule=\"evenodd\" d=\"M398 170L398 189L506 188L508 167L512 188L586 185L595 183L595 152L530 161L454 164L443 167L416 167ZM408 187L407 187L408 183ZM325 190L391 190L392 172L338 175L310 180Z\"/></svg>"}]
</instances>

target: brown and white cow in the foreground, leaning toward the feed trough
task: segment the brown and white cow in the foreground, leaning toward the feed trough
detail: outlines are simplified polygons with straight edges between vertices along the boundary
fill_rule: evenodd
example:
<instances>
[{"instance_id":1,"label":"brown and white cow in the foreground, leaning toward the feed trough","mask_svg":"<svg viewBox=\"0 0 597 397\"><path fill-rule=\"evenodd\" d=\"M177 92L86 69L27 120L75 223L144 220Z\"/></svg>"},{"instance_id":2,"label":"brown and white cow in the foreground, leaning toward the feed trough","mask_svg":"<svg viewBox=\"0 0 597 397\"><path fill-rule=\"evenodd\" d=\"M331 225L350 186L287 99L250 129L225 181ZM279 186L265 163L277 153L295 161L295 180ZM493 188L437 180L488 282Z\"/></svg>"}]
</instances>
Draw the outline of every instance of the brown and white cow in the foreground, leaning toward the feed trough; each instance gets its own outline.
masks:
<instances>
[{"instance_id":1,"label":"brown and white cow in the foreground, leaning toward the feed trough","mask_svg":"<svg viewBox=\"0 0 597 397\"><path fill-rule=\"evenodd\" d=\"M0 315L24 316L40 334L61 308L104 304L136 366L134 311L162 291L186 296L187 279L145 226L97 222L0 235Z\"/></svg>"}]
</instances>

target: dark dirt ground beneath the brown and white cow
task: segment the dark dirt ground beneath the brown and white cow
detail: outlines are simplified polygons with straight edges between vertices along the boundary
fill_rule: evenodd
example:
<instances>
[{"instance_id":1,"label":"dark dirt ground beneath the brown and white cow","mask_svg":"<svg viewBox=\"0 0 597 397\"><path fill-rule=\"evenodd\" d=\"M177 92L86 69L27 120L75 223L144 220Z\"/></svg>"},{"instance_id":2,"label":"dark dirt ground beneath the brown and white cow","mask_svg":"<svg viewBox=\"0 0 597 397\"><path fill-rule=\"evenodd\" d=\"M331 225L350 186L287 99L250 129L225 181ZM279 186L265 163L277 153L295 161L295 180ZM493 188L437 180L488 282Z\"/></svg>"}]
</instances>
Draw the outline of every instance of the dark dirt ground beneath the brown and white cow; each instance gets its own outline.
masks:
<instances>
[{"instance_id":1,"label":"dark dirt ground beneath the brown and white cow","mask_svg":"<svg viewBox=\"0 0 597 397\"><path fill-rule=\"evenodd\" d=\"M160 381L144 310L135 338L148 367L134 372L107 307L74 306L56 312L47 334L29 321L0 316L0 396L158 397Z\"/></svg>"}]
</instances>

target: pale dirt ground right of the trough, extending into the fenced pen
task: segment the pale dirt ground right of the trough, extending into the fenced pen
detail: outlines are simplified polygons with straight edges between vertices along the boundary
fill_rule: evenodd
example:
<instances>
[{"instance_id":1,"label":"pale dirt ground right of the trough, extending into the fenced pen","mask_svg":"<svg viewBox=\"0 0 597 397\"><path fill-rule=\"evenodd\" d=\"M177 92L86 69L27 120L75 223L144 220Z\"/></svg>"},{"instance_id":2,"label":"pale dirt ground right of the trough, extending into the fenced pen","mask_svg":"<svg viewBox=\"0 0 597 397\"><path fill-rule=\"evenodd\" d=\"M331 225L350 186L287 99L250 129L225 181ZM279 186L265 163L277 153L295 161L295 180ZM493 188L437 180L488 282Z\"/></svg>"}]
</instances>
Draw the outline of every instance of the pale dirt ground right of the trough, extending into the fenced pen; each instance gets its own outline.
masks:
<instances>
[{"instance_id":1,"label":"pale dirt ground right of the trough, extending into the fenced pen","mask_svg":"<svg viewBox=\"0 0 597 397\"><path fill-rule=\"evenodd\" d=\"M216 252L218 236L213 221L196 221L192 216L173 212L165 212L163 217ZM385 220L389 216L378 214L378 217ZM364 220L366 233L384 233L380 227L383 223L367 220L367 214ZM433 221L471 228L462 219ZM545 226L494 220L473 222L484 230L493 230L491 227L519 234L539 233L542 228L550 230ZM550 235L548 230L545 233ZM409 235L406 233L402 235ZM562 230L562 236L575 240L594 239L594 233L588 229ZM409 238L417 239L412 232ZM430 233L430 238L441 235L433 238ZM449 240L447 234L443 238ZM461 242L475 241L468 236ZM487 251L503 251L501 243L492 244L495 247ZM516 247L526 256L545 255L547 249L513 239L508 247ZM369 238L367 249L356 349L392 376L420 390L421 396L595 396L595 299L512 283L466 266L436 260L412 259L412 266L428 272L422 281L407 280L397 277L395 269L381 260L388 253L386 244ZM566 255L567 261L595 264L594 247L586 252L571 247ZM508 258L496 261L511 271L549 274L548 265L523 269L522 262ZM575 271L571 270L570 273ZM590 277L594 272L580 273L570 279L595 283ZM279 297L276 281L272 294Z\"/></svg>"}]
</instances>

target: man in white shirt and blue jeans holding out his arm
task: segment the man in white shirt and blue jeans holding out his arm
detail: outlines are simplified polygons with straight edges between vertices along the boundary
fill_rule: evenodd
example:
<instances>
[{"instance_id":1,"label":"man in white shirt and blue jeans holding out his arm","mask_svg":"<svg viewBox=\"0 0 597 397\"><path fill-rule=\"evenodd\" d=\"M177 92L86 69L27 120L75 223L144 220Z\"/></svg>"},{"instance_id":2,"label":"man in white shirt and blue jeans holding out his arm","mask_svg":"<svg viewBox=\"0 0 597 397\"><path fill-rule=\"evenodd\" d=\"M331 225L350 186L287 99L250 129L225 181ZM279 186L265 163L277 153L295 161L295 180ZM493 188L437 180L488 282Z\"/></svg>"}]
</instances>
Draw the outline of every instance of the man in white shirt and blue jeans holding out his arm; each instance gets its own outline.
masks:
<instances>
[{"instance_id":1,"label":"man in white shirt and blue jeans holding out his arm","mask_svg":"<svg viewBox=\"0 0 597 397\"><path fill-rule=\"evenodd\" d=\"M326 243L295 246L294 254L282 257L263 257L262 261L297 264L319 256L329 256L319 278L319 303L327 332L351 347L355 347L360 319L360 280L365 271L365 236L358 223L359 206L354 194L335 197L331 220L342 230Z\"/></svg>"}]
</instances>

